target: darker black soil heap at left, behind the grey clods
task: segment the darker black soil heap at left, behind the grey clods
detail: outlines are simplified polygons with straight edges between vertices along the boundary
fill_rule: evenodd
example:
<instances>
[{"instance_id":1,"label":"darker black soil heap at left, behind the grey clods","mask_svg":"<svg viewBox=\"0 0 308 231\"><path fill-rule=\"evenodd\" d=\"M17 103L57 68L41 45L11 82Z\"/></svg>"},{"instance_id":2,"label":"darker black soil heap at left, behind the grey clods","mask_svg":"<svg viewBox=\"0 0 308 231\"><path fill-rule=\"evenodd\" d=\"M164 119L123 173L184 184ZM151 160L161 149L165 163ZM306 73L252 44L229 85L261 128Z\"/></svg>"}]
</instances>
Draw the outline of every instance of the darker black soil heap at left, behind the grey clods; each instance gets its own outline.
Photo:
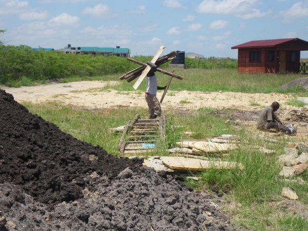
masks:
<instances>
[{"instance_id":1,"label":"darker black soil heap at left, behind the grey clods","mask_svg":"<svg viewBox=\"0 0 308 231\"><path fill-rule=\"evenodd\" d=\"M0 90L0 183L20 185L42 203L70 201L83 196L86 173L113 179L141 166L140 159L118 159L73 138Z\"/></svg>"}]
</instances>

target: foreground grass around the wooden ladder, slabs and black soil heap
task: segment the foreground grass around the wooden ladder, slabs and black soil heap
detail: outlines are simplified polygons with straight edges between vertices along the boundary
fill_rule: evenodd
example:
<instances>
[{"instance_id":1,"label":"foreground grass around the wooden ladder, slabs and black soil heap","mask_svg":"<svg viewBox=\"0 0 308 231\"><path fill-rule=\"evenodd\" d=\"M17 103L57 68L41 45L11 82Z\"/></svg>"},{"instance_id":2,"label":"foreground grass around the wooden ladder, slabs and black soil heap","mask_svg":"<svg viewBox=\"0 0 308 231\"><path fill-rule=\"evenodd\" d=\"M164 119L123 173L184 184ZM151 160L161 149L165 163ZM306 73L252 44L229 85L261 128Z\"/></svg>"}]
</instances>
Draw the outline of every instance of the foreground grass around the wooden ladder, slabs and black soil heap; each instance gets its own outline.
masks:
<instances>
[{"instance_id":1,"label":"foreground grass around the wooden ladder, slabs and black soil heap","mask_svg":"<svg viewBox=\"0 0 308 231\"><path fill-rule=\"evenodd\" d=\"M109 153L117 155L117 146L121 134L112 133L108 128L125 125L134 117L135 112L142 116L146 110L140 108L105 109L95 112L74 110L61 103L24 104L30 112L40 115L45 120L59 126L77 139L100 145ZM243 137L239 149L230 152L229 156L221 157L223 161L237 161L244 165L244 170L210 169L201 173L199 182L186 181L195 189L211 192L211 186L217 185L224 193L225 210L230 213L238 225L255 230L307 230L308 222L301 217L291 216L275 205L281 200L282 187L291 186L299 196L299 203L308 204L308 185L283 183L278 177L280 166L276 164L277 156L294 137L282 137L279 143L266 143L252 137L253 129L246 126L224 124L230 111L223 111L219 117L213 109L201 108L186 114L176 111L166 112L166 142L161 144L157 153L152 155L168 155L166 148L176 146L183 137L183 131L195 131L192 138L205 139L223 133L236 134ZM232 112L232 111L231 111ZM171 129L171 126L183 126ZM264 154L254 148L255 145L276 150L273 154ZM209 156L210 160L216 159ZM307 180L307 173L300 176Z\"/></svg>"}]
</instances>

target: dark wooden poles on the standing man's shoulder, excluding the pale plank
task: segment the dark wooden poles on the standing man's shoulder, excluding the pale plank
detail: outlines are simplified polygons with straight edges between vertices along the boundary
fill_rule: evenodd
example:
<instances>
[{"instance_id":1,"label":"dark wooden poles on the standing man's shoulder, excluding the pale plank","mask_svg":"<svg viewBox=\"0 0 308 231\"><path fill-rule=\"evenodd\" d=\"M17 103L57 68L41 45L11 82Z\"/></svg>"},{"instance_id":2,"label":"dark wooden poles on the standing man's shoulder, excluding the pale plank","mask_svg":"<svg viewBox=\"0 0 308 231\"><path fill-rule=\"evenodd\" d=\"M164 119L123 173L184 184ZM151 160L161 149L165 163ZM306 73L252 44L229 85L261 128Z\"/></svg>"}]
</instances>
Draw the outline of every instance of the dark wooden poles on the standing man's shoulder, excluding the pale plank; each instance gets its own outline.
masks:
<instances>
[{"instance_id":1,"label":"dark wooden poles on the standing man's shoulder, excluding the pale plank","mask_svg":"<svg viewBox=\"0 0 308 231\"><path fill-rule=\"evenodd\" d=\"M166 55L160 57L160 58L156 61L155 65L159 67L160 65L162 65L162 64L164 64L164 63L167 63L167 62L169 62L170 60L175 59L176 56L177 56L177 52L172 51L172 52L170 52L170 53L168 53L168 54L166 54ZM131 62L133 62L133 63L137 63L137 64L141 65L141 67L138 67L138 68L136 68L136 69L133 69L133 70L131 70L131 71L125 73L124 75L122 75L122 76L119 78L120 80L126 80L128 83L130 83L131 81L137 79L137 78L141 75L141 73L142 73L142 72L144 71L144 69L147 67L147 64L142 63L142 62L139 62L139 61L137 61L137 60L130 59L129 57L127 58L127 60L128 60L128 61L131 61ZM181 76L181 75L174 74L174 73L171 73L171 72L162 70L162 69L160 69L160 68L157 68L157 71L159 71L159 72L161 72L161 73L163 73L163 74L167 74L167 75L173 76L174 78L177 78L177 79L179 79L179 80L183 80L183 79L184 79L184 77Z\"/></svg>"}]
</instances>

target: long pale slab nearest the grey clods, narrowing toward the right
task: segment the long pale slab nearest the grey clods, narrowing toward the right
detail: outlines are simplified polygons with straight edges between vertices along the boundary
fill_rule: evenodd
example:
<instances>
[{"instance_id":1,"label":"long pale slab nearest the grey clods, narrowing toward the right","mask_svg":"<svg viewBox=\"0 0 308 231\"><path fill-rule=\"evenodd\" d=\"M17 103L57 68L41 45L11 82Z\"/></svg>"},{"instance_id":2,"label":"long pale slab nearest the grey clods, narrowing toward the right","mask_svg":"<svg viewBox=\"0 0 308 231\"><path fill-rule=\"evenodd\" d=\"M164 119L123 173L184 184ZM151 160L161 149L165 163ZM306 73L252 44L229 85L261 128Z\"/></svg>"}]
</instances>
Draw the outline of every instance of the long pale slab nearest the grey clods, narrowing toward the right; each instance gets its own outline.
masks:
<instances>
[{"instance_id":1,"label":"long pale slab nearest the grey clods, narrowing toward the right","mask_svg":"<svg viewBox=\"0 0 308 231\"><path fill-rule=\"evenodd\" d=\"M209 168L219 169L243 169L244 166L237 162L226 162L226 161L206 161L193 158L184 157L161 157L163 163L170 169L174 170L189 170L189 171L200 171Z\"/></svg>"}]
</instances>

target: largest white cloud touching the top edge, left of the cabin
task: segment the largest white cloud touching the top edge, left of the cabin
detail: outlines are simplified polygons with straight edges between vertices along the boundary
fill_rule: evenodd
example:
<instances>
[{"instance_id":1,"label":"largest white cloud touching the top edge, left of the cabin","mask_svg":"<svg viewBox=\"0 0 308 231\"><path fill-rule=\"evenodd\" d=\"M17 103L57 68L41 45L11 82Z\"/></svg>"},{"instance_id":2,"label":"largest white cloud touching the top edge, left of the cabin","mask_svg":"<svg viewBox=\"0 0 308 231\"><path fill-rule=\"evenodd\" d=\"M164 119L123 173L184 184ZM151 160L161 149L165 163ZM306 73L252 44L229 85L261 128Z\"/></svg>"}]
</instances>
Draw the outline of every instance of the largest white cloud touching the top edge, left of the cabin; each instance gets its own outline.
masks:
<instances>
[{"instance_id":1,"label":"largest white cloud touching the top edge, left of the cabin","mask_svg":"<svg viewBox=\"0 0 308 231\"><path fill-rule=\"evenodd\" d=\"M258 0L203 0L196 10L203 14L229 14L243 19L263 17L272 13L271 10L262 13L254 9L257 3Z\"/></svg>"}]
</instances>

